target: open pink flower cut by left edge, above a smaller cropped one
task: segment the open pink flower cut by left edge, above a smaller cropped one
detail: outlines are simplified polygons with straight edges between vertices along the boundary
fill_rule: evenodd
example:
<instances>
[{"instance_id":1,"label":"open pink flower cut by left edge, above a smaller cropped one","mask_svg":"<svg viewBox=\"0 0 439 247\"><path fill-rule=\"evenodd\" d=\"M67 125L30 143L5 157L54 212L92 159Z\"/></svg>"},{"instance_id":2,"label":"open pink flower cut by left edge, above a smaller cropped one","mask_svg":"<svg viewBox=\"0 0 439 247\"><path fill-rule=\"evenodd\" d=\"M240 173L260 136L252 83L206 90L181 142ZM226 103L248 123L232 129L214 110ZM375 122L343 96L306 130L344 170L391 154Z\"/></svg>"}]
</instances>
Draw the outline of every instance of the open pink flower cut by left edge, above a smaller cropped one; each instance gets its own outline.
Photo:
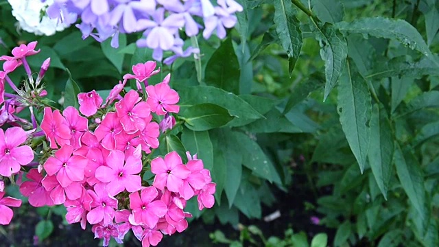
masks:
<instances>
[{"instance_id":1,"label":"open pink flower cut by left edge, above a smaller cropped one","mask_svg":"<svg viewBox=\"0 0 439 247\"><path fill-rule=\"evenodd\" d=\"M34 159L34 152L26 141L26 132L20 127L0 129L0 175L11 176L20 171L21 165L27 165Z\"/></svg>"}]
</instances>

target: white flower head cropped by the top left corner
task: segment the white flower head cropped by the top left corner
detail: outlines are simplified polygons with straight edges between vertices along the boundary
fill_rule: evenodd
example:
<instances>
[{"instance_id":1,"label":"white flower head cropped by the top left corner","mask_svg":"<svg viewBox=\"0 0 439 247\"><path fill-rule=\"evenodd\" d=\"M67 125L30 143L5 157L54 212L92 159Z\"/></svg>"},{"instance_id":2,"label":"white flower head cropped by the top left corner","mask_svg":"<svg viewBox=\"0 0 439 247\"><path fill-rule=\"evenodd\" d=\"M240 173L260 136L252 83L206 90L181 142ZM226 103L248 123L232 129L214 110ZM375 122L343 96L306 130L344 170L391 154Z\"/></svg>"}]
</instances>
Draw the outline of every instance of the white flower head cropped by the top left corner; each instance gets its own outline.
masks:
<instances>
[{"instance_id":1,"label":"white flower head cropped by the top left corner","mask_svg":"<svg viewBox=\"0 0 439 247\"><path fill-rule=\"evenodd\" d=\"M69 24L49 19L45 14L47 6L54 0L47 0L45 3L40 0L8 0L8 2L12 6L12 15L19 21L22 30L36 35L51 36L69 27ZM43 18L41 18L42 13Z\"/></svg>"}]
</instances>

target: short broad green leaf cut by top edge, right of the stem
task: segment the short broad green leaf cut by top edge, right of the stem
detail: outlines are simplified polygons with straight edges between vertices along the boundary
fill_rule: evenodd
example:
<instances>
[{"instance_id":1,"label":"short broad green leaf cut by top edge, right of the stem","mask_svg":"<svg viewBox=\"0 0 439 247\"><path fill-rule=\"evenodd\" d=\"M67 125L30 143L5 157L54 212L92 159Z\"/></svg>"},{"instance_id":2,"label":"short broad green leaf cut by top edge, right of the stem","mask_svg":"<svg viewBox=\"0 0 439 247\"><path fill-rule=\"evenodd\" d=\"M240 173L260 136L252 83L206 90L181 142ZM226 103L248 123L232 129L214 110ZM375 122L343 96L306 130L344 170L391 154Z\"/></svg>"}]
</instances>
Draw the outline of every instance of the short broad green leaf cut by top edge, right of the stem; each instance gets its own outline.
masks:
<instances>
[{"instance_id":1,"label":"short broad green leaf cut by top edge, right of the stem","mask_svg":"<svg viewBox=\"0 0 439 247\"><path fill-rule=\"evenodd\" d=\"M338 0L313 0L312 11L323 23L337 23L343 21L344 7Z\"/></svg>"}]
</instances>

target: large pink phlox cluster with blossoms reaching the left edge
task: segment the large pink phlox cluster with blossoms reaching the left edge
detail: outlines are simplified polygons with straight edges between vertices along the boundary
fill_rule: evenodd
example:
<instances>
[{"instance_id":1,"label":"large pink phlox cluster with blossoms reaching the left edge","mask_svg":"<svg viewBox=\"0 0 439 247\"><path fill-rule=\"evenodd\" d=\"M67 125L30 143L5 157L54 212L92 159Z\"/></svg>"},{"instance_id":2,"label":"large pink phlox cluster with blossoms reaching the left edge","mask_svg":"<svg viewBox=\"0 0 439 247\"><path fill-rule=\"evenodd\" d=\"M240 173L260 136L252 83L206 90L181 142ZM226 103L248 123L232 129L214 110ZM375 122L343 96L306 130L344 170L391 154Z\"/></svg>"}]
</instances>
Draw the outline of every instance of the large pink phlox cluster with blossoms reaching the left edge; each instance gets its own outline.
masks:
<instances>
[{"instance_id":1,"label":"large pink phlox cluster with blossoms reaching the left edge","mask_svg":"<svg viewBox=\"0 0 439 247\"><path fill-rule=\"evenodd\" d=\"M177 152L150 160L161 132L176 124L171 114L180 110L170 75L156 85L147 84L158 72L155 68L155 62L134 65L134 75L123 76L105 102L91 91L78 95L79 110L40 107L42 131L35 132L35 126L28 138L19 127L0 130L0 175L11 176L31 163L34 152L23 143L43 134L48 143L40 145L39 165L29 169L27 181L20 185L29 204L64 204L67 222L80 222L83 229L87 222L92 224L104 246L111 237L121 243L130 230L142 246L156 246L163 234L184 231L186 217L191 217L185 212L187 200L197 196L200 210L213 207L215 183L202 160L189 152L186 164ZM126 93L130 79L137 80L137 90ZM158 124L154 119L163 120ZM155 174L152 185L142 181L147 170ZM0 215L5 216L0 224L9 224L12 210L6 206L19 207L21 202L1 199L3 194Z\"/></svg>"}]
</instances>

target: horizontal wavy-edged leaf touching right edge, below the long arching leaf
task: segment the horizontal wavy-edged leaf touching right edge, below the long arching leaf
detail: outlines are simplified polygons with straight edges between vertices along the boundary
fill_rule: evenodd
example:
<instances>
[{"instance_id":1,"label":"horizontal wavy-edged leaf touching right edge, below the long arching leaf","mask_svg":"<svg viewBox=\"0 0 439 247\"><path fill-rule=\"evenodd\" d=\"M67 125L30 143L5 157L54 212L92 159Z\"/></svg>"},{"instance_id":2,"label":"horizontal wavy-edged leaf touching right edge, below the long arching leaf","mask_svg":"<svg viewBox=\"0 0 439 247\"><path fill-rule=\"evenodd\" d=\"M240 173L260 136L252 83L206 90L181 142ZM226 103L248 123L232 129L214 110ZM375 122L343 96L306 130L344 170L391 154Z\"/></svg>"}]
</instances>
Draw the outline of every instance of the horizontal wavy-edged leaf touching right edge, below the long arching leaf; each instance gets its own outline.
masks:
<instances>
[{"instance_id":1,"label":"horizontal wavy-edged leaf touching right edge, below the long arching leaf","mask_svg":"<svg viewBox=\"0 0 439 247\"><path fill-rule=\"evenodd\" d=\"M437 59L436 56L431 58ZM383 66L384 65L384 66ZM388 78L392 76L420 78L423 75L439 75L439 66L429 58L422 58L418 62L408 62L405 56L396 57L387 64L379 66L379 71L366 75L366 78Z\"/></svg>"}]
</instances>

